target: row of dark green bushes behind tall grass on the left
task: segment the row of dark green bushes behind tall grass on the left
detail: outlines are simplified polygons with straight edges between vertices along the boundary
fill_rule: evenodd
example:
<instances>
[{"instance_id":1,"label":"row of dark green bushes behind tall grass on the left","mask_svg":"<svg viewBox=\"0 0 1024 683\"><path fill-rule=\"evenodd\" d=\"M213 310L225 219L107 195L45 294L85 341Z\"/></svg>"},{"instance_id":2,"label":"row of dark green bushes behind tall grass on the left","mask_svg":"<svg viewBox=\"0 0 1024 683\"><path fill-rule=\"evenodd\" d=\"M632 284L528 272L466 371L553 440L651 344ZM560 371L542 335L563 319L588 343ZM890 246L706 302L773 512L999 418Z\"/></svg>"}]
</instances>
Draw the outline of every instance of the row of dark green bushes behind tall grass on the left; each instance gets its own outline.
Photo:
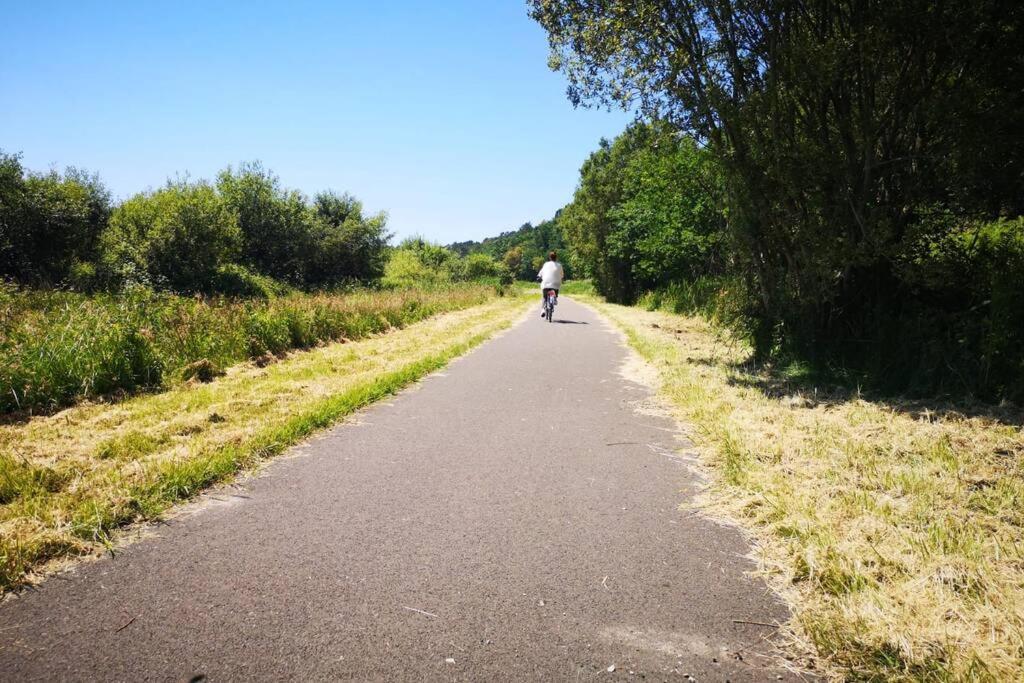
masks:
<instances>
[{"instance_id":1,"label":"row of dark green bushes behind tall grass on the left","mask_svg":"<svg viewBox=\"0 0 1024 683\"><path fill-rule=\"evenodd\" d=\"M385 225L349 195L307 198L259 164L114 204L96 175L31 173L0 153L0 279L23 286L265 296L365 283L383 273Z\"/></svg>"}]
</instances>

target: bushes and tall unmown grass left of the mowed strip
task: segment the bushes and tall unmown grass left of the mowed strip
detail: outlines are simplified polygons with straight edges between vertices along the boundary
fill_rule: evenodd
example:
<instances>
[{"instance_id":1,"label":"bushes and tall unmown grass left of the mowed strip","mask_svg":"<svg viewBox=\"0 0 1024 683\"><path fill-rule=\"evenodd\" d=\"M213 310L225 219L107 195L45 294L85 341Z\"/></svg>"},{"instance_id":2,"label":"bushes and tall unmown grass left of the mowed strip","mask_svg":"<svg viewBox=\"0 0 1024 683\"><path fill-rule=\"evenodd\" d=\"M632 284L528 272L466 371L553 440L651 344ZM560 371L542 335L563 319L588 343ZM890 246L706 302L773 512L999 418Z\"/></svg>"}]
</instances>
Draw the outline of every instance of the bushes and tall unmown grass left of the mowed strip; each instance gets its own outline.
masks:
<instances>
[{"instance_id":1,"label":"bushes and tall unmown grass left of the mowed strip","mask_svg":"<svg viewBox=\"0 0 1024 683\"><path fill-rule=\"evenodd\" d=\"M483 254L391 247L385 225L259 164L115 204L96 175L32 173L0 153L0 414L209 381L511 283Z\"/></svg>"}]
</instances>

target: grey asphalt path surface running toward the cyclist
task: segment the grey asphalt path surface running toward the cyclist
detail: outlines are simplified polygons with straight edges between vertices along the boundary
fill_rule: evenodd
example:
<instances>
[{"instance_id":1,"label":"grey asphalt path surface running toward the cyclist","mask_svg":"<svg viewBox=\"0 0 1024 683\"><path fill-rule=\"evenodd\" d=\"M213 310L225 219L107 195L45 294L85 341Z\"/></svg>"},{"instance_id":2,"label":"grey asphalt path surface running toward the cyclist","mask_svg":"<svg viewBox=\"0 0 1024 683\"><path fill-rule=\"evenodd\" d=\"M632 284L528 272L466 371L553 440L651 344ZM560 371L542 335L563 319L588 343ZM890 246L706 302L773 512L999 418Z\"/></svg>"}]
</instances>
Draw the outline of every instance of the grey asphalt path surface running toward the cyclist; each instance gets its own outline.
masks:
<instances>
[{"instance_id":1,"label":"grey asphalt path surface running toward the cyclist","mask_svg":"<svg viewBox=\"0 0 1024 683\"><path fill-rule=\"evenodd\" d=\"M618 337L559 317L0 605L0 680L790 680Z\"/></svg>"}]
</instances>

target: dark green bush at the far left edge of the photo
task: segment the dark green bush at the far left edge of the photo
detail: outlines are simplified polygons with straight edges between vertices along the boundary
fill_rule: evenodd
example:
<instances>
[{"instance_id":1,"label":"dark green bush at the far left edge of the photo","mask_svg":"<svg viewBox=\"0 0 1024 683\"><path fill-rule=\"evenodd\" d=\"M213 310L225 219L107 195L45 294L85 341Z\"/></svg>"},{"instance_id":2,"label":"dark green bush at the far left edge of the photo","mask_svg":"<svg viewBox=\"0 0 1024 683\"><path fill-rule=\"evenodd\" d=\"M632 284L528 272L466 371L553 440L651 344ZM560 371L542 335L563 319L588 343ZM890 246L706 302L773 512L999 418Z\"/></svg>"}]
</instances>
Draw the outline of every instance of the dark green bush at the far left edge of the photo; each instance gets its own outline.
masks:
<instances>
[{"instance_id":1,"label":"dark green bush at the far left edge of the photo","mask_svg":"<svg viewBox=\"0 0 1024 683\"><path fill-rule=\"evenodd\" d=\"M27 174L16 156L0 152L0 276L66 282L77 263L95 257L110 210L96 176L74 168Z\"/></svg>"}]
</instances>

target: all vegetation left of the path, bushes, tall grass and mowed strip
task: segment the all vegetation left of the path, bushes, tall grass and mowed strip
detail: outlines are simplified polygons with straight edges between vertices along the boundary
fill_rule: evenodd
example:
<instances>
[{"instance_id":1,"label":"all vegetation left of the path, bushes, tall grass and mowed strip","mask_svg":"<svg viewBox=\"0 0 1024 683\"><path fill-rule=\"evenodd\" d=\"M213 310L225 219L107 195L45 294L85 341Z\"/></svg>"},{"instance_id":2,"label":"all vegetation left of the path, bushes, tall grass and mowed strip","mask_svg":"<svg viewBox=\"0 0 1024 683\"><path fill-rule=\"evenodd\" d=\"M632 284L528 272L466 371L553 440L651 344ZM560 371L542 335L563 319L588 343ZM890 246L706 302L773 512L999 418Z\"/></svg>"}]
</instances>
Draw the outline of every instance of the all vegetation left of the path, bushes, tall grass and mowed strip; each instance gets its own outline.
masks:
<instances>
[{"instance_id":1,"label":"all vegetation left of the path, bushes, tall grass and mowed strip","mask_svg":"<svg viewBox=\"0 0 1024 683\"><path fill-rule=\"evenodd\" d=\"M259 164L115 203L0 153L0 593L443 366L511 283Z\"/></svg>"}]
</instances>

